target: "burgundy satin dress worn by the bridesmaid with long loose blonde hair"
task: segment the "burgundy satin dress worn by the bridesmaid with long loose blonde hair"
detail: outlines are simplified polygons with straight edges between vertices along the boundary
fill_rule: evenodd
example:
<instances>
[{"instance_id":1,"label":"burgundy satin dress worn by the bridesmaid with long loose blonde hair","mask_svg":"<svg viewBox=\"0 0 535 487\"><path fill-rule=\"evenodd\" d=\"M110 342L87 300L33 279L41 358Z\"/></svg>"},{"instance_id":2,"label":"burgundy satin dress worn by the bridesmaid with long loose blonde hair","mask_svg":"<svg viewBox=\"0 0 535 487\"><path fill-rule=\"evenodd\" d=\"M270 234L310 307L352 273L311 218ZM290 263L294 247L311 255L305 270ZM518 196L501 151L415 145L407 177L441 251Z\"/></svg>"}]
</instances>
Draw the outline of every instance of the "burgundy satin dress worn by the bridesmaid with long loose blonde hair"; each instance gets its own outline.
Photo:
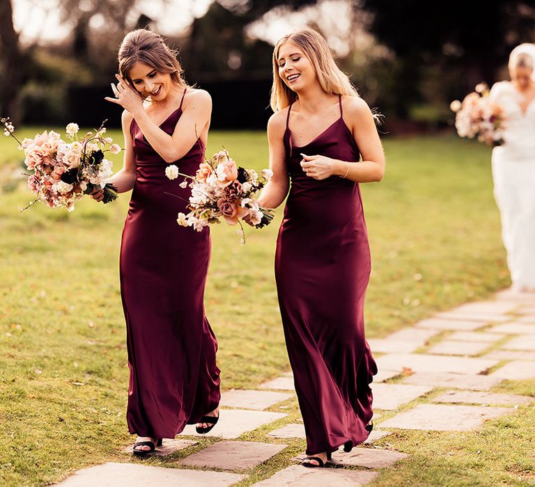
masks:
<instances>
[{"instance_id":1,"label":"burgundy satin dress worn by the bridesmaid with long loose blonde hair","mask_svg":"<svg viewBox=\"0 0 535 487\"><path fill-rule=\"evenodd\" d=\"M359 185L337 176L318 181L300 166L300 152L359 161L339 104L340 118L307 145L292 145L291 106L284 133L291 187L275 276L309 455L366 440L377 373L364 337L371 257Z\"/></svg>"}]
</instances>

